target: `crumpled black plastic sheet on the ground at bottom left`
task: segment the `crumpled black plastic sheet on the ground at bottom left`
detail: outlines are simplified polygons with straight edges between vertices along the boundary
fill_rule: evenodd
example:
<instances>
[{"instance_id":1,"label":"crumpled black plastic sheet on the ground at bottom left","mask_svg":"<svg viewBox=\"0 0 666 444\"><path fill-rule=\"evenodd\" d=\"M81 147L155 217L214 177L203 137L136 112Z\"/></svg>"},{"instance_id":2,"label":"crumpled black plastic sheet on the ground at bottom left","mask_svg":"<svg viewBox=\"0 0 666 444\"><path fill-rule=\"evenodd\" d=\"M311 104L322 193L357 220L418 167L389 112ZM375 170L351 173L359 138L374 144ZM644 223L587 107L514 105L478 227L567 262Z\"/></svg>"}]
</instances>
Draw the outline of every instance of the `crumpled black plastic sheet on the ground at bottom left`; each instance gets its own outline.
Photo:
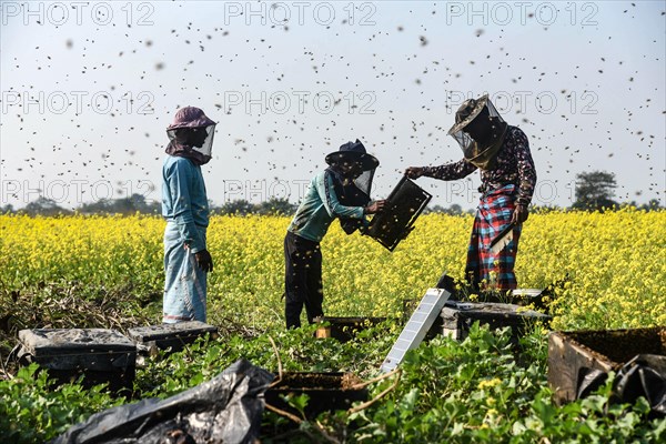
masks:
<instances>
[{"instance_id":1,"label":"crumpled black plastic sheet on the ground at bottom left","mask_svg":"<svg viewBox=\"0 0 666 444\"><path fill-rule=\"evenodd\" d=\"M51 443L252 443L259 438L263 394L273 379L239 360L213 380L167 400L95 413Z\"/></svg>"}]
</instances>

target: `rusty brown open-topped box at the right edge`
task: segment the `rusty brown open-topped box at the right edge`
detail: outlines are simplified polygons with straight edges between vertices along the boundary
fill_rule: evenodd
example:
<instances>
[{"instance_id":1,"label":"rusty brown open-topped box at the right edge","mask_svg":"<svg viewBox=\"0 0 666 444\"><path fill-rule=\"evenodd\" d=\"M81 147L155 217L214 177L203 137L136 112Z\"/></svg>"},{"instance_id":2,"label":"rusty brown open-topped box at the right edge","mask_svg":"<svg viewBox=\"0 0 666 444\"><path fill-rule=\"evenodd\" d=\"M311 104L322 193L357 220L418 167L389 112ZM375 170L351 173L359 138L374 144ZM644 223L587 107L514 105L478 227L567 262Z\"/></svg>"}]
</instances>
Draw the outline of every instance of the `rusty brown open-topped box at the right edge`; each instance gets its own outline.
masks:
<instances>
[{"instance_id":1,"label":"rusty brown open-topped box at the right edge","mask_svg":"<svg viewBox=\"0 0 666 444\"><path fill-rule=\"evenodd\" d=\"M587 372L616 372L637 354L666 355L666 327L551 333L548 385L555 402L576 400Z\"/></svg>"}]
</instances>

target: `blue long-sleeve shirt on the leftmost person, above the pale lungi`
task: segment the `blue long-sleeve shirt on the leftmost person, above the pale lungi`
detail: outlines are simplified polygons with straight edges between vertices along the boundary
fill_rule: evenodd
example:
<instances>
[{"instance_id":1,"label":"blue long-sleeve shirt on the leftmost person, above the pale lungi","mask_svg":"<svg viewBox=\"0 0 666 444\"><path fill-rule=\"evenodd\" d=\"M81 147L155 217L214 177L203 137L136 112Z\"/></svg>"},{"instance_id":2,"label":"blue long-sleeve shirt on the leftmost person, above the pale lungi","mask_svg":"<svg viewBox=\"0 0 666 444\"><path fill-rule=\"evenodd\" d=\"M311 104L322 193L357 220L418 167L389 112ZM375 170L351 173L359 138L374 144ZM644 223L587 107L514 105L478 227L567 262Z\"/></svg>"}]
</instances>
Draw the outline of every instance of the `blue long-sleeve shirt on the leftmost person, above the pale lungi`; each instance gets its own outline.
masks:
<instances>
[{"instance_id":1,"label":"blue long-sleeve shirt on the leftmost person, above the pale lungi","mask_svg":"<svg viewBox=\"0 0 666 444\"><path fill-rule=\"evenodd\" d=\"M162 215L178 224L192 253L205 250L196 226L209 224L208 196L201 167L186 158L167 155L162 165Z\"/></svg>"}]
</instances>

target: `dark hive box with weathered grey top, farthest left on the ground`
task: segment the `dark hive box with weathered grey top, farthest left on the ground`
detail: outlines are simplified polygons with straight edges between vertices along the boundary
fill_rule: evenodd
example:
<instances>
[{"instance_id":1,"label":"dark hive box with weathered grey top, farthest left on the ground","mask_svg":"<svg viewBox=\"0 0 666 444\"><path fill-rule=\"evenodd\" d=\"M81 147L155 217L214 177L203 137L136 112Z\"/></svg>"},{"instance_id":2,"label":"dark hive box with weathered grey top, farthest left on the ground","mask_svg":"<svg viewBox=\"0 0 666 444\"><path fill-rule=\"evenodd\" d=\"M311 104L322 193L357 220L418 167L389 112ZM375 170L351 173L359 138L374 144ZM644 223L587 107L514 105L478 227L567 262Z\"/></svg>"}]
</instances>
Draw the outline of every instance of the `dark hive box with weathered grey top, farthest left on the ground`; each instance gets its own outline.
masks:
<instances>
[{"instance_id":1,"label":"dark hive box with weathered grey top, farthest left on the ground","mask_svg":"<svg viewBox=\"0 0 666 444\"><path fill-rule=\"evenodd\" d=\"M19 332L21 365L37 363L58 383L83 375L83 386L132 390L137 346L115 330L38 329Z\"/></svg>"}]
</instances>

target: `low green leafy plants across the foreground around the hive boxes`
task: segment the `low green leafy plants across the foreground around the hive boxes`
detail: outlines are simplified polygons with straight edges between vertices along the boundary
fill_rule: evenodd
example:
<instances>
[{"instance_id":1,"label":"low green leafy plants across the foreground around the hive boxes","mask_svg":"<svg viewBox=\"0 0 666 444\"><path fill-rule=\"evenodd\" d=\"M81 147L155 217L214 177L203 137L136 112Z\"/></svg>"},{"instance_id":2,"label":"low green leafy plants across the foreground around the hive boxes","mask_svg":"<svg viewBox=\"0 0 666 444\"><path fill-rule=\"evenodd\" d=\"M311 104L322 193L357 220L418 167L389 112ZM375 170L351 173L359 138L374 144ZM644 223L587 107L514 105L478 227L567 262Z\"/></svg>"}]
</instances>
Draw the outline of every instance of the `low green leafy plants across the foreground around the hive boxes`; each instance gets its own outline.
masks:
<instances>
[{"instance_id":1,"label":"low green leafy plants across the foreground around the hive boxes","mask_svg":"<svg viewBox=\"0 0 666 444\"><path fill-rule=\"evenodd\" d=\"M275 375L281 365L283 371L350 371L370 380L377 376L398 330L389 321L347 343L315 339L315 326L276 329L255 337L204 337L139 369L135 397L169 397L209 381L240 357ZM462 343L437 336L410 351L395 389L369 407L322 413L299 425L265 412L264 430L291 427L289 440L294 443L324 442L324 436L357 443L652 443L666 437L666 421L648 420L644 398L634 405L609 402L613 374L591 397L555 405L545 376L546 337L547 331L535 324L516 349L509 329L493 332L474 324ZM0 404L0 431L10 442L43 442L121 403L101 386L49 387L46 373L36 370L32 365L11 381L0 381L0 396L8 400ZM395 377L372 384L370 397ZM289 398L300 412L307 402L306 396ZM271 442L270 436L264 441Z\"/></svg>"}]
</instances>

